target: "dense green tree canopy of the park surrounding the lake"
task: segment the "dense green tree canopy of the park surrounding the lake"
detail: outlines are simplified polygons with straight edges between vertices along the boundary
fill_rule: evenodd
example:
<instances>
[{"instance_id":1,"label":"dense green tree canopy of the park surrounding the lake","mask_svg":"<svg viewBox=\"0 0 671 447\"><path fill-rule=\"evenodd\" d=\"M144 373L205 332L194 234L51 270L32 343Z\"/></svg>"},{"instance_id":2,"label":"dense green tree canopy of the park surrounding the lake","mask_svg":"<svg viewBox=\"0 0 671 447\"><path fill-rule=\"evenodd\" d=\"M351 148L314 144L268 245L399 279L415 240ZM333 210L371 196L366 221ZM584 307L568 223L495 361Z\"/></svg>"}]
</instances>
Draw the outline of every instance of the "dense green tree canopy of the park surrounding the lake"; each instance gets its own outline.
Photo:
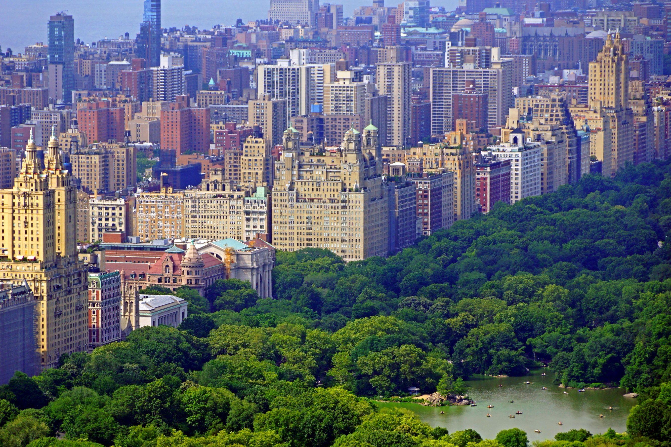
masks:
<instances>
[{"instance_id":1,"label":"dense green tree canopy of the park surrounding the lake","mask_svg":"<svg viewBox=\"0 0 671 447\"><path fill-rule=\"evenodd\" d=\"M204 297L144 290L191 315L17 373L0 387L0 445L525 447L521 430L449 434L370 397L463 393L470 375L547 363L567 385L641 399L627 436L572 430L538 447L666 447L669 232L671 166L643 164L497 204L386 259L277 253L272 299L234 279Z\"/></svg>"}]
</instances>

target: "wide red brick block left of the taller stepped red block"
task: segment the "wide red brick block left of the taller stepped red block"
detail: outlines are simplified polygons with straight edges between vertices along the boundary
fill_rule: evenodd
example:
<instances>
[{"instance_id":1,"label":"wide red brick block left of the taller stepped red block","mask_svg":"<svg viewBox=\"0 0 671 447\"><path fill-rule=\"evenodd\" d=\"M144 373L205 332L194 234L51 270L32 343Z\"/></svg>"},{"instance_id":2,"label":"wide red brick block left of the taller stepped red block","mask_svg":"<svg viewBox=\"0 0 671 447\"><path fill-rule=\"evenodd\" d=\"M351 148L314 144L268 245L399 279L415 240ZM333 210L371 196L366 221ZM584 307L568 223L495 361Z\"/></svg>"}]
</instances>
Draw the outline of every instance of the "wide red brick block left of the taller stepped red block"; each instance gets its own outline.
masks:
<instances>
[{"instance_id":1,"label":"wide red brick block left of the taller stepped red block","mask_svg":"<svg viewBox=\"0 0 671 447\"><path fill-rule=\"evenodd\" d=\"M125 111L121 107L109 107L107 101L77 103L79 131L86 133L89 143L123 141Z\"/></svg>"}]
</instances>

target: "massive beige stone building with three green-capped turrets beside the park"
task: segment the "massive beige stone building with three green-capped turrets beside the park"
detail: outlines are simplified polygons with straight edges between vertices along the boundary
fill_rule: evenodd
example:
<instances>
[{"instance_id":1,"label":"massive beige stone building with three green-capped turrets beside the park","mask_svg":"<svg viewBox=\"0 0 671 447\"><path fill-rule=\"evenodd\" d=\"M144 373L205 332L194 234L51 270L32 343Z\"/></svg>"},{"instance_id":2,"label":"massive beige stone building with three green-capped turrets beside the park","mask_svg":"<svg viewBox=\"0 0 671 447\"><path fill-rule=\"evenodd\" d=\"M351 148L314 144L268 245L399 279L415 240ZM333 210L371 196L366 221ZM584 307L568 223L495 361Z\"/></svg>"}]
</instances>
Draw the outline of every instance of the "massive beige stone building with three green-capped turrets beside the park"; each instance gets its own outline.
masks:
<instances>
[{"instance_id":1,"label":"massive beige stone building with three green-capped turrets beside the park","mask_svg":"<svg viewBox=\"0 0 671 447\"><path fill-rule=\"evenodd\" d=\"M329 249L345 261L388 250L389 194L378 129L350 129L342 146L301 146L287 129L275 164L272 243L280 250Z\"/></svg>"}]
</instances>

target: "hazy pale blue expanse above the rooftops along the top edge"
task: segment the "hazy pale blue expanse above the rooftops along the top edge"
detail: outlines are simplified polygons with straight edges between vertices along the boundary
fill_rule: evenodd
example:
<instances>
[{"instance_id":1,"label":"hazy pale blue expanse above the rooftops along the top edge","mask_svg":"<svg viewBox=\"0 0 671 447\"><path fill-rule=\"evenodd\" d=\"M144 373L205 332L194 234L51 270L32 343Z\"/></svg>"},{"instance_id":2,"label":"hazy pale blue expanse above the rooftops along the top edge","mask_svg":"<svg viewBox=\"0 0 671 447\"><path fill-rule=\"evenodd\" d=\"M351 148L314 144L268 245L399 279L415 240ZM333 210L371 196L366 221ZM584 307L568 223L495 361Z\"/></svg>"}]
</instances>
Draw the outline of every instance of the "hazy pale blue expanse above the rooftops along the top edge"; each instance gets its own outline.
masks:
<instances>
[{"instance_id":1,"label":"hazy pale blue expanse above the rooftops along the top edge","mask_svg":"<svg viewBox=\"0 0 671 447\"><path fill-rule=\"evenodd\" d=\"M322 3L327 3L323 1ZM372 4L372 0L333 0L344 5L346 16L355 7ZM388 5L400 0L387 0ZM454 9L458 0L435 0L432 5ZM233 25L268 17L270 0L162 0L163 27L183 25L209 28L218 23ZM142 0L0 0L0 48L3 52L23 52L35 42L46 43L46 23L56 11L66 10L74 17L74 38L92 42L101 38L117 38L128 32L134 37L142 21Z\"/></svg>"}]
</instances>

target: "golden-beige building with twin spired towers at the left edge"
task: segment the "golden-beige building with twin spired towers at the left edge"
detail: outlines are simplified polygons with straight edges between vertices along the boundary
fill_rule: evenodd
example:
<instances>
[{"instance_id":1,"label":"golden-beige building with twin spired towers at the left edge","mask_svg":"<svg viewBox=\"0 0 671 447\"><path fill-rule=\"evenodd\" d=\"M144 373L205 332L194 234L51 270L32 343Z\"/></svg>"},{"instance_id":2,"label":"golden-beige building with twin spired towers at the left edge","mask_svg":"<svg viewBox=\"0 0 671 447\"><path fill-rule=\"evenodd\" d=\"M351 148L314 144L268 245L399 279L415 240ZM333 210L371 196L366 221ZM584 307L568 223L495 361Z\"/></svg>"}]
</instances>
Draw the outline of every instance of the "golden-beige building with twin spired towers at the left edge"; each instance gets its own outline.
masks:
<instances>
[{"instance_id":1,"label":"golden-beige building with twin spired towers at the left edge","mask_svg":"<svg viewBox=\"0 0 671 447\"><path fill-rule=\"evenodd\" d=\"M11 189L0 190L0 272L38 300L40 366L87 349L87 272L76 247L76 189L52 133L42 170L32 139Z\"/></svg>"}]
</instances>

